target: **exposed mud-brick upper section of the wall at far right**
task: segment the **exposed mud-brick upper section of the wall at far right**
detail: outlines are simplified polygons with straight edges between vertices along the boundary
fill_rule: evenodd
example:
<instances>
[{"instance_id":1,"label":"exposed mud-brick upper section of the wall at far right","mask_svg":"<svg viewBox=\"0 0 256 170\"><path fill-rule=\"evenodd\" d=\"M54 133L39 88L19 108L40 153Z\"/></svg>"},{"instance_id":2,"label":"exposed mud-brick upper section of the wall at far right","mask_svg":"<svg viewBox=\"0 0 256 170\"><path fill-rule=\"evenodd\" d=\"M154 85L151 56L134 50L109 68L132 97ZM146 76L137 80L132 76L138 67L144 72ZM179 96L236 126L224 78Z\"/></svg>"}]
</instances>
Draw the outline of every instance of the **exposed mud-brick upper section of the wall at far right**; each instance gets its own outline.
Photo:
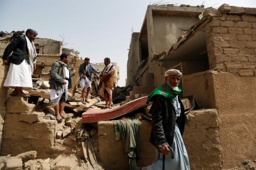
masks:
<instances>
[{"instance_id":1,"label":"exposed mud-brick upper section of the wall at far right","mask_svg":"<svg viewBox=\"0 0 256 170\"><path fill-rule=\"evenodd\" d=\"M213 17L205 33L210 69L256 76L256 16Z\"/></svg>"}]
</instances>

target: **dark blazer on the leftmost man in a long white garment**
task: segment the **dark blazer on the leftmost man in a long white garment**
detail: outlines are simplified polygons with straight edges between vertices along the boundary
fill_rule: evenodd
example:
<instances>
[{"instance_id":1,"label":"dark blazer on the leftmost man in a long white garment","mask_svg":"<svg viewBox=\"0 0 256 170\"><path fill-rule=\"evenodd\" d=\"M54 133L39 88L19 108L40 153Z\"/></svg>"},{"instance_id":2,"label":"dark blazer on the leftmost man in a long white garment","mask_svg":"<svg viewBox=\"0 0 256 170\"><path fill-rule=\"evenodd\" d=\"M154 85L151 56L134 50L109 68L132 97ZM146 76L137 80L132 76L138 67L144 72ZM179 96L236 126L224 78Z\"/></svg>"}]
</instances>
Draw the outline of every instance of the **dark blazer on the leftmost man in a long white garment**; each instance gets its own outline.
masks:
<instances>
[{"instance_id":1,"label":"dark blazer on the leftmost man in a long white garment","mask_svg":"<svg viewBox=\"0 0 256 170\"><path fill-rule=\"evenodd\" d=\"M12 56L9 55L12 53ZM3 55L3 60L9 60L13 64L20 64L28 57L28 46L25 36L17 35L12 42L7 45Z\"/></svg>"}]
</instances>

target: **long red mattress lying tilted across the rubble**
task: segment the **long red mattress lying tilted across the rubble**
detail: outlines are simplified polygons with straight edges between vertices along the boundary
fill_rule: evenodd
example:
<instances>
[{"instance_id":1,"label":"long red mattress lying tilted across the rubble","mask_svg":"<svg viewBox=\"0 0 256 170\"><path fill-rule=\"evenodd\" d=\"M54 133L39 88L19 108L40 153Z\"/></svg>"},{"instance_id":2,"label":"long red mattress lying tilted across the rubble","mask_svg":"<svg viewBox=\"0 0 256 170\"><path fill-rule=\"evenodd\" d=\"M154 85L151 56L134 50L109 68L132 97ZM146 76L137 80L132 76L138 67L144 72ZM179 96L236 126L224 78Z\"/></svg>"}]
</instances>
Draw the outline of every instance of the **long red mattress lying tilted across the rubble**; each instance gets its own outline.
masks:
<instances>
[{"instance_id":1,"label":"long red mattress lying tilted across the rubble","mask_svg":"<svg viewBox=\"0 0 256 170\"><path fill-rule=\"evenodd\" d=\"M128 102L122 106L114 106L112 109L92 109L82 113L82 123L93 123L109 120L126 113L130 113L141 107L147 106L147 96Z\"/></svg>"}]
</instances>

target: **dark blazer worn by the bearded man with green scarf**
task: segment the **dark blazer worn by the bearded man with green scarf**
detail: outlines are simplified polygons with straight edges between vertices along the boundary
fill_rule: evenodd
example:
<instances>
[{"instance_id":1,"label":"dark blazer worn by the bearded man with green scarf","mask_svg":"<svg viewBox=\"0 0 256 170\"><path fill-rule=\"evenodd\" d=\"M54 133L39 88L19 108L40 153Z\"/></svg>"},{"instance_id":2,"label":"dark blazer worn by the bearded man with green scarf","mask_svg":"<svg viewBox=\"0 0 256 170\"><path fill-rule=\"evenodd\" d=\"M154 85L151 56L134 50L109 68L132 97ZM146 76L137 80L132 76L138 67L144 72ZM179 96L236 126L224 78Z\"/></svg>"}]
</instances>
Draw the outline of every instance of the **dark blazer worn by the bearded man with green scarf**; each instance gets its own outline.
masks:
<instances>
[{"instance_id":1,"label":"dark blazer worn by the bearded man with green scarf","mask_svg":"<svg viewBox=\"0 0 256 170\"><path fill-rule=\"evenodd\" d=\"M164 96L157 94L154 96L153 104L150 109L152 114L152 131L150 142L159 150L164 144L172 147L174 141L175 122L177 123L181 135L185 126L184 106L180 98L181 106L180 117L177 117L171 101ZM176 121L175 121L176 120Z\"/></svg>"}]
</instances>

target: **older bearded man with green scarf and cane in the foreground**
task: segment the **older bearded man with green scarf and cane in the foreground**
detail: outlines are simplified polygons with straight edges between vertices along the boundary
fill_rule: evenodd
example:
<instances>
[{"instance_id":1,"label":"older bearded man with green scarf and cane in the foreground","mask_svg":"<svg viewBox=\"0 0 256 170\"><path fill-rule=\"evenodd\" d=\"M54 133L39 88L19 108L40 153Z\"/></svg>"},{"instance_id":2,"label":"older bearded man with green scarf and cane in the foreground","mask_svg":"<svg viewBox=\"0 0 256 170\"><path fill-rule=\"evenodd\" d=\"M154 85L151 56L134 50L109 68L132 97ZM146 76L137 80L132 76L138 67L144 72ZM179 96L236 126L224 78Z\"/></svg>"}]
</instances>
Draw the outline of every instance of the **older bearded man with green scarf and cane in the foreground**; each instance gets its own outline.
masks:
<instances>
[{"instance_id":1,"label":"older bearded man with green scarf and cane in the foreground","mask_svg":"<svg viewBox=\"0 0 256 170\"><path fill-rule=\"evenodd\" d=\"M146 101L153 102L152 131L150 142L157 148L157 160L142 170L175 169L188 170L189 160L182 139L185 125L184 107L178 94L182 74L169 69L164 74L164 85L157 87ZM164 167L163 167L164 165Z\"/></svg>"}]
</instances>

